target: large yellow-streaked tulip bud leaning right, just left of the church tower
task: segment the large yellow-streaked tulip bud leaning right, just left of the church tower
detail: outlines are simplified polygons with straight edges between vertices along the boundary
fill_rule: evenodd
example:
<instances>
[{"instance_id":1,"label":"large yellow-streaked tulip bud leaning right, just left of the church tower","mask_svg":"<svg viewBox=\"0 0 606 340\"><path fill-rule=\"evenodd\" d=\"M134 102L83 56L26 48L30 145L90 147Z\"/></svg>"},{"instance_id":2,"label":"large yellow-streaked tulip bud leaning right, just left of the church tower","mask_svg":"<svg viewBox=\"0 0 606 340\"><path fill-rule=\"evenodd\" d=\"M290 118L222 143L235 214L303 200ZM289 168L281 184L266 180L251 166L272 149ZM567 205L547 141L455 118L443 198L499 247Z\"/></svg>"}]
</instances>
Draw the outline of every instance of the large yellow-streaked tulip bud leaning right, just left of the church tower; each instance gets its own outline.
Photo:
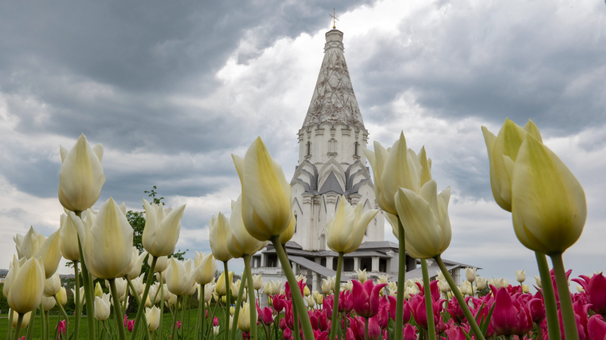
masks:
<instances>
[{"instance_id":1,"label":"large yellow-streaked tulip bud leaning right, just left of the church tower","mask_svg":"<svg viewBox=\"0 0 606 340\"><path fill-rule=\"evenodd\" d=\"M290 183L282 167L271 158L261 138L255 139L244 159L232 155L242 184L242 220L259 241L280 236L290 224Z\"/></svg>"}]
</instances>

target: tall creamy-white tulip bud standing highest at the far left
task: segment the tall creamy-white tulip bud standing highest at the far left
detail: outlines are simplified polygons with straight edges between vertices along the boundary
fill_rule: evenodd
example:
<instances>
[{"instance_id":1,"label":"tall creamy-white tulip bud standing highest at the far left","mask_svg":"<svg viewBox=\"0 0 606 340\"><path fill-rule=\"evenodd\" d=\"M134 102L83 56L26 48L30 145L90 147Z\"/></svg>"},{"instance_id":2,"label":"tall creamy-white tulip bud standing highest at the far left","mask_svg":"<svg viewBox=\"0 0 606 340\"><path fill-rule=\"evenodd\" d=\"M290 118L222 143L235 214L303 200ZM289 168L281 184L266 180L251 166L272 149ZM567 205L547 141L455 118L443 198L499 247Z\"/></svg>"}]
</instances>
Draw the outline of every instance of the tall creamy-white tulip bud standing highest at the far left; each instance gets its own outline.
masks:
<instances>
[{"instance_id":1,"label":"tall creamy-white tulip bud standing highest at the far left","mask_svg":"<svg viewBox=\"0 0 606 340\"><path fill-rule=\"evenodd\" d=\"M103 146L92 148L84 134L68 151L60 147L61 170L59 170L58 197L61 206L71 211L83 211L92 207L105 183L101 158Z\"/></svg>"}]
</instances>

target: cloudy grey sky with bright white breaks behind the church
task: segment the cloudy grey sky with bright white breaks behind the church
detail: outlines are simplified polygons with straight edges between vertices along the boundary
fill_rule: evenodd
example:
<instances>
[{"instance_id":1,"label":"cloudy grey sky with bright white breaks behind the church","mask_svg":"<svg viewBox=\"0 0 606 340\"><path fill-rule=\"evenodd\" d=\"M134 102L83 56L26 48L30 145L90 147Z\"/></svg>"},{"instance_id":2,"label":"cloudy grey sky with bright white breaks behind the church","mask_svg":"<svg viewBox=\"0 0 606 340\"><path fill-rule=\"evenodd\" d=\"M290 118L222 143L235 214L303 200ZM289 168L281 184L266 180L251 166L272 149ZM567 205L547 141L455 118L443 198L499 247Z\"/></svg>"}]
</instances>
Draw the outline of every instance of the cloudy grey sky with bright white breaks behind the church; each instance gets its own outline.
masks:
<instances>
[{"instance_id":1,"label":"cloudy grey sky with bright white breaks behind the church","mask_svg":"<svg viewBox=\"0 0 606 340\"><path fill-rule=\"evenodd\" d=\"M261 136L292 177L333 7L370 139L404 131L452 186L445 258L536 275L490 194L480 127L509 117L536 122L586 190L567 267L606 269L604 2L446 0L1 3L0 267L13 234L58 228L59 145L82 132L105 149L97 208L140 210L156 185L187 203L178 248L208 252L207 220L240 191L230 153Z\"/></svg>"}]
</instances>

